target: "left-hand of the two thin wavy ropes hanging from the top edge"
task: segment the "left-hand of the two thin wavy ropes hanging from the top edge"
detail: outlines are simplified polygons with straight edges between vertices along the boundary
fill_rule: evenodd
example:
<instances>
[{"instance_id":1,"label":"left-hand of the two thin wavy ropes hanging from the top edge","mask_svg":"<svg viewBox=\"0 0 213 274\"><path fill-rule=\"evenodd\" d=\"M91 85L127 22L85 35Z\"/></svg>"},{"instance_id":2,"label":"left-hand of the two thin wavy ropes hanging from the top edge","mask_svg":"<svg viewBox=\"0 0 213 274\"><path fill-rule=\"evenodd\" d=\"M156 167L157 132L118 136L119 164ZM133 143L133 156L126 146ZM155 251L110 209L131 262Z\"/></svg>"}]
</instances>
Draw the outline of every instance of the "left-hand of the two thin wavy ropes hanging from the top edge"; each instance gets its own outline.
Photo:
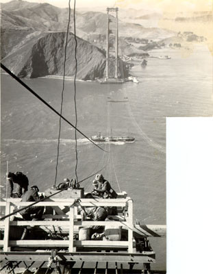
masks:
<instances>
[{"instance_id":1,"label":"left-hand of the two thin wavy ropes hanging from the top edge","mask_svg":"<svg viewBox=\"0 0 213 274\"><path fill-rule=\"evenodd\" d=\"M62 99L61 99L60 115L62 115L63 101L64 101L64 82L65 82L65 74L66 74L66 48L67 48L67 42L68 42L68 29L69 29L70 22L71 22L71 0L68 1L68 24L67 24L67 28L66 28L66 42L65 42L65 49L64 49L64 74L63 74L63 84L62 84L62 95L61 95ZM60 116L54 186L56 184L57 175L58 175L58 158L59 158L59 150L60 150L61 127L62 127L62 117ZM75 125L75 127L76 127L76 125ZM76 132L76 129L75 129L75 132Z\"/></svg>"}]
</instances>

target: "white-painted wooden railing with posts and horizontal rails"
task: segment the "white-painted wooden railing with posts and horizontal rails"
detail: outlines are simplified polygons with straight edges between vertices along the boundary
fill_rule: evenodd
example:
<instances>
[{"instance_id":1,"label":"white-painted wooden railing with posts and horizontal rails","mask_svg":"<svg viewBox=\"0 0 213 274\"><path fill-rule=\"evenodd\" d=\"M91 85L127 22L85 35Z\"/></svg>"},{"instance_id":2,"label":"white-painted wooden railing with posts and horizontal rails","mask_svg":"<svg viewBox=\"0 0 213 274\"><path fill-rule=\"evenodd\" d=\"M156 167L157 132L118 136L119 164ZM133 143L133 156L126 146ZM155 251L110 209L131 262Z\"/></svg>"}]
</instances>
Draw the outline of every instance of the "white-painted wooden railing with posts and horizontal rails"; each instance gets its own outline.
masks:
<instances>
[{"instance_id":1,"label":"white-painted wooden railing with posts and horizontal rails","mask_svg":"<svg viewBox=\"0 0 213 274\"><path fill-rule=\"evenodd\" d=\"M129 197L118 199L82 199L75 203L74 199L52 199L51 201L42 201L34 206L51 207L55 210L53 215L44 215L51 220L44 221L12 221L11 217L1 221L0 227L4 228L3 240L0 240L0 246L3 251L10 251L10 247L66 247L68 251L76 251L76 247L103 247L103 248L125 248L129 253L134 251L133 238L133 202ZM7 199L7 201L0 201L0 206L5 207L5 215L10 214L15 208L19 206L29 206L32 202L21 202L20 199ZM79 204L83 207L103 207L114 206L121 210L127 206L126 218L118 217L118 221L83 221L81 215L77 214ZM68 208L68 212L64 213L63 209ZM58 212L57 212L58 211ZM59 215L57 215L59 213ZM54 218L55 216L55 218ZM60 220L59 220L60 218ZM11 226L36 226L40 227L62 227L68 232L68 240L10 240ZM128 240L126 241L109 241L109 240L74 240L74 234L78 234L79 227L88 227L93 225L117 225L118 227L125 227L128 230Z\"/></svg>"}]
</instances>

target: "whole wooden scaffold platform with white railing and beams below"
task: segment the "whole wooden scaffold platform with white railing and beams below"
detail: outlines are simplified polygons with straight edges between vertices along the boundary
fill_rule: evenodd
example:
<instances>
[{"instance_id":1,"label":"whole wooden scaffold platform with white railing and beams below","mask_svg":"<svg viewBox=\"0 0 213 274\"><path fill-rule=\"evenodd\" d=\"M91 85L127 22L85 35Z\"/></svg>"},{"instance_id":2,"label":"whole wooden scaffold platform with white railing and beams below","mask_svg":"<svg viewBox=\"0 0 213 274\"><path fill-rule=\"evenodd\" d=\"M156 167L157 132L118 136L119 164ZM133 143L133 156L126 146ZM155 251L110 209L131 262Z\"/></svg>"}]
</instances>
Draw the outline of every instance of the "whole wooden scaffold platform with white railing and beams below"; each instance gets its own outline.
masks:
<instances>
[{"instance_id":1,"label":"whole wooden scaffold platform with white railing and beams below","mask_svg":"<svg viewBox=\"0 0 213 274\"><path fill-rule=\"evenodd\" d=\"M30 204L12 198L0 202L5 215ZM149 237L166 236L165 225L134 225L133 201L126 192L118 193L117 199L54 197L34 206L45 207L42 221L13 221L12 216L1 221L1 273L18 273L20 269L21 273L35 274L151 273L155 252ZM91 221L88 217L84 220L80 210L88 207L116 208L117 214L108 216L107 221ZM99 227L116 234L118 239L80 236L81 229ZM133 269L134 265L137 269Z\"/></svg>"}]
</instances>

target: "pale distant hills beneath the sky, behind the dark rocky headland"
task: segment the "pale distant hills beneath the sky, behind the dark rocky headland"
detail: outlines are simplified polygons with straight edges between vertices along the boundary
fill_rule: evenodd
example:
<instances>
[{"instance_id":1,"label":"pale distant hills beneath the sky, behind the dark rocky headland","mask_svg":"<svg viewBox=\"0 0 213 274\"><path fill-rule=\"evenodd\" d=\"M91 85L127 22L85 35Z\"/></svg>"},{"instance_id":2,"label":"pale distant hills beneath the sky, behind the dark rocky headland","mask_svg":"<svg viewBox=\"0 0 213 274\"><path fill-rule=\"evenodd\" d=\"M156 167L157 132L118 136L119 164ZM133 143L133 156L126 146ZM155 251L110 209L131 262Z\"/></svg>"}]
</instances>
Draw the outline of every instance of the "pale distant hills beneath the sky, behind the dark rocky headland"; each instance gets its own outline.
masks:
<instances>
[{"instance_id":1,"label":"pale distant hills beneath the sky, behind the dark rocky headland","mask_svg":"<svg viewBox=\"0 0 213 274\"><path fill-rule=\"evenodd\" d=\"M1 4L1 28L14 29L34 29L36 31L64 32L68 23L68 8L57 8L53 5L42 3L28 3L27 1L10 1ZM138 14L138 13L137 13ZM105 34L107 14L103 12L76 12L76 27L79 37L90 33ZM118 14L119 16L119 14ZM12 19L11 19L12 17ZM111 16L113 21L113 16ZM159 40L173 36L174 32L163 29L142 27L140 24L126 23L119 20L119 34L121 36L134 36L143 38L147 32L152 40ZM73 26L73 11L71 12L71 26ZM79 33L78 33L79 32ZM159 33L162 37L159 37Z\"/></svg>"}]
</instances>

